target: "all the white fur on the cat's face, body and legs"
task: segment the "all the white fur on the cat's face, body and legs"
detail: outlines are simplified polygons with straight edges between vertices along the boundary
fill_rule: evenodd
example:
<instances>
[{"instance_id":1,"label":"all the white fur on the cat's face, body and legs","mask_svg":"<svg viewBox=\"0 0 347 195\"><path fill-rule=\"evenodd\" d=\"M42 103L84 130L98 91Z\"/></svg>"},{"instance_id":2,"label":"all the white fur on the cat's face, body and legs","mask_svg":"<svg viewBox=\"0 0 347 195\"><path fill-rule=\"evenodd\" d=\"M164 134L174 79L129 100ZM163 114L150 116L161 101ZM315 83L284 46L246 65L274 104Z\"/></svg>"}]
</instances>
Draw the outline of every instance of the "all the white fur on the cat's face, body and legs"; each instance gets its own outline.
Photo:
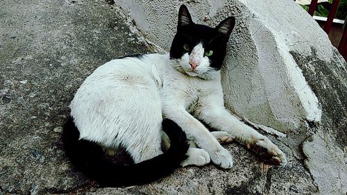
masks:
<instances>
[{"instance_id":1,"label":"all the white fur on the cat's face, body and legs","mask_svg":"<svg viewBox=\"0 0 347 195\"><path fill-rule=\"evenodd\" d=\"M211 159L223 168L232 167L232 156L198 121L201 119L242 144L266 139L264 147L282 154L269 139L224 108L220 71L210 69L201 44L194 49L194 56L185 54L180 60L170 60L168 54L149 54L141 60L112 60L96 69L70 105L81 139L114 149L124 146L135 162L141 162L162 153L161 122L167 117L201 148L189 149L183 165L201 166ZM189 58L199 62L196 69L189 65Z\"/></svg>"}]
</instances>

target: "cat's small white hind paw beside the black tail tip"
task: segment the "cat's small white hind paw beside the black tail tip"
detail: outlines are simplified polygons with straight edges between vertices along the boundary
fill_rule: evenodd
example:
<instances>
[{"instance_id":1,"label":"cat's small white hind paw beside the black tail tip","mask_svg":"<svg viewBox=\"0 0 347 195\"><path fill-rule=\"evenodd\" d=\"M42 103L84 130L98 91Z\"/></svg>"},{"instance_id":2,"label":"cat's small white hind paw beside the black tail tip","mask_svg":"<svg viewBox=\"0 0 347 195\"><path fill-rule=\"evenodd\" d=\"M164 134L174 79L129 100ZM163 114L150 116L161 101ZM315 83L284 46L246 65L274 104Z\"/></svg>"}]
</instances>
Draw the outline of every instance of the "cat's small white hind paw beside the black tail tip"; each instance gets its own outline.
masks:
<instances>
[{"instance_id":1,"label":"cat's small white hind paw beside the black tail tip","mask_svg":"<svg viewBox=\"0 0 347 195\"><path fill-rule=\"evenodd\" d=\"M210 155L203 149L189 148L187 151L188 158L181 162L181 166L185 167L188 165L203 166L210 163Z\"/></svg>"}]
</instances>

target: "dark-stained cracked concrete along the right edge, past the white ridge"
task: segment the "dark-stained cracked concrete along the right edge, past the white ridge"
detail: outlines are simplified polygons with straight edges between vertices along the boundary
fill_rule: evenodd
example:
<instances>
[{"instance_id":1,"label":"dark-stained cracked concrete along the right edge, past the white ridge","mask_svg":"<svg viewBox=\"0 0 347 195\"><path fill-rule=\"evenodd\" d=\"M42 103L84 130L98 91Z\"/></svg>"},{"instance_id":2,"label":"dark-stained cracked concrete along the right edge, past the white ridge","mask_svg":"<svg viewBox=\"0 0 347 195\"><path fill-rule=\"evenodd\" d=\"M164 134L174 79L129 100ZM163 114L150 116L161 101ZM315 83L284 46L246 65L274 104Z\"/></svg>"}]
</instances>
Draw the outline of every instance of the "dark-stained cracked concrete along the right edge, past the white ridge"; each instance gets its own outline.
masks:
<instances>
[{"instance_id":1,"label":"dark-stained cracked concrete along the right edge, past the white ridge","mask_svg":"<svg viewBox=\"0 0 347 195\"><path fill-rule=\"evenodd\" d=\"M310 135L303 142L305 167L321 194L346 193L346 61L336 49L334 56L326 62L316 58L316 49L310 56L291 51L291 55L316 93L323 109L319 123L306 121ZM314 68L311 68L314 67ZM337 74L339 73L339 74ZM344 167L341 169L341 167Z\"/></svg>"}]
</instances>

